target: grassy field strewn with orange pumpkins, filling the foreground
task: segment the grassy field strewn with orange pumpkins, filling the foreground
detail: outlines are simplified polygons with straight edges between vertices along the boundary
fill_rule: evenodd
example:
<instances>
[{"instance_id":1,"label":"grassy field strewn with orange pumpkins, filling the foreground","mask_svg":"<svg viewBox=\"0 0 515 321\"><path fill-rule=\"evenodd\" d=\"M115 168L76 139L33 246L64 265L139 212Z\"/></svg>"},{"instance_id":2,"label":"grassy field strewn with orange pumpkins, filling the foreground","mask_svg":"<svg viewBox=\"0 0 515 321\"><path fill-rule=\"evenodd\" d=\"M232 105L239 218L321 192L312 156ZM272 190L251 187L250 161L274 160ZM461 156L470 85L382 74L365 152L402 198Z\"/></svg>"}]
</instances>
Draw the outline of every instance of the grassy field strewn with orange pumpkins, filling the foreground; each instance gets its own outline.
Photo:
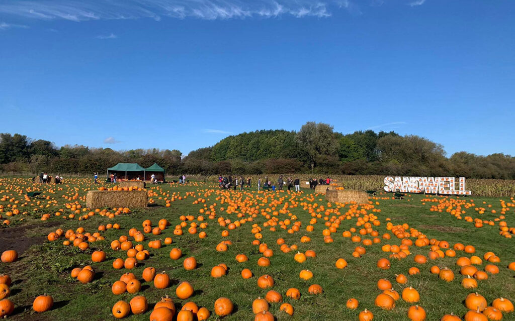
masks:
<instances>
[{"instance_id":1,"label":"grassy field strewn with orange pumpkins, filling the foreground","mask_svg":"<svg viewBox=\"0 0 515 321\"><path fill-rule=\"evenodd\" d=\"M71 178L0 179L8 320L515 320L515 201L147 185L87 208ZM39 198L29 192L39 191Z\"/></svg>"}]
</instances>

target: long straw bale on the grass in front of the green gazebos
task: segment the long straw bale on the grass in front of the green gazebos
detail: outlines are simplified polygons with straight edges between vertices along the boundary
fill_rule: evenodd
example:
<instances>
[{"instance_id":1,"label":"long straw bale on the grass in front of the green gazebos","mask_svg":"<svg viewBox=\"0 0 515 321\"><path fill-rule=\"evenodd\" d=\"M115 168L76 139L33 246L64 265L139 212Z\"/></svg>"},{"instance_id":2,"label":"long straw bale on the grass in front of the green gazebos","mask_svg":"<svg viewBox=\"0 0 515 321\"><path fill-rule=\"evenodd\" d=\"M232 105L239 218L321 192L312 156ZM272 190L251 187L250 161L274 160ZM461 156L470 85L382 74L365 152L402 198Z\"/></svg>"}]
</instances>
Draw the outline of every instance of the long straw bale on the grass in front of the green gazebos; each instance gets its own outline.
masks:
<instances>
[{"instance_id":1,"label":"long straw bale on the grass in front of the green gazebos","mask_svg":"<svg viewBox=\"0 0 515 321\"><path fill-rule=\"evenodd\" d=\"M128 207L130 209L147 207L147 191L89 191L86 206L89 208Z\"/></svg>"}]
</instances>

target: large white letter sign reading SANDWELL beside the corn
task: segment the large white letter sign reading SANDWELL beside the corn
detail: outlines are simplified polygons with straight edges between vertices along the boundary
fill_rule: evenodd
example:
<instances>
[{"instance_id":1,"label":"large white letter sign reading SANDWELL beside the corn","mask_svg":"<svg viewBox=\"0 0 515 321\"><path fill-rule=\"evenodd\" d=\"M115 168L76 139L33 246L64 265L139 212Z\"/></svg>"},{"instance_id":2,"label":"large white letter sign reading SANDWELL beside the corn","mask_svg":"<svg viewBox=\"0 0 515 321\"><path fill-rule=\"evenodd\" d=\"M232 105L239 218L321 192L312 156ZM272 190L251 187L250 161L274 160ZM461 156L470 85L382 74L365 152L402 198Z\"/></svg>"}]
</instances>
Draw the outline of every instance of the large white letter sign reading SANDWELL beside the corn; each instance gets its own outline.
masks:
<instances>
[{"instance_id":1,"label":"large white letter sign reading SANDWELL beside the corn","mask_svg":"<svg viewBox=\"0 0 515 321\"><path fill-rule=\"evenodd\" d=\"M386 176L384 184L387 192L471 195L469 190L465 190L465 177L459 177L458 189L455 177Z\"/></svg>"}]
</instances>

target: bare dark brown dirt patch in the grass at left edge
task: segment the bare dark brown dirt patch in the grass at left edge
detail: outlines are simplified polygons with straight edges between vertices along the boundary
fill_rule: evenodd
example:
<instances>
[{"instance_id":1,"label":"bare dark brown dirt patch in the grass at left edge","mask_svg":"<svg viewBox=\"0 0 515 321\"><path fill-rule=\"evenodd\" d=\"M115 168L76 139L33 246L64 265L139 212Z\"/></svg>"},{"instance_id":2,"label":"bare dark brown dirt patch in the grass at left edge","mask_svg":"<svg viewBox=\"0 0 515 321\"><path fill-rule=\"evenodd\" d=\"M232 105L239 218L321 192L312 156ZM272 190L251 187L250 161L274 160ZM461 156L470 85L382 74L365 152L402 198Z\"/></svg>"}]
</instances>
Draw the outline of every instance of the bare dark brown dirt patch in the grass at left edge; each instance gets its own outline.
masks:
<instances>
[{"instance_id":1,"label":"bare dark brown dirt patch in the grass at left edge","mask_svg":"<svg viewBox=\"0 0 515 321\"><path fill-rule=\"evenodd\" d=\"M21 256L30 246L41 244L46 240L45 236L29 236L31 230L57 225L59 222L48 222L44 226L33 224L0 229L0 252L15 249Z\"/></svg>"}]
</instances>

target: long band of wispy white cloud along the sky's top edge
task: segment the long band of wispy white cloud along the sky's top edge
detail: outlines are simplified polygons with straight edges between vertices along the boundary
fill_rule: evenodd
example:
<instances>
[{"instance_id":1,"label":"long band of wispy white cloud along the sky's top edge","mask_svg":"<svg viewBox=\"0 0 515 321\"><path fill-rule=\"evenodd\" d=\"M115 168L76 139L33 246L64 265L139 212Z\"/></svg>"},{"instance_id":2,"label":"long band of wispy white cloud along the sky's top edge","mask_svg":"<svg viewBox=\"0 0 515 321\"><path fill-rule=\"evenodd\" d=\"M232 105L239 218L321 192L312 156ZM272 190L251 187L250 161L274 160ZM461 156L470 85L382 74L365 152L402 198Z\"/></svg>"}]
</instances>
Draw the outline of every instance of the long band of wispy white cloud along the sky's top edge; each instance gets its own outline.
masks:
<instances>
[{"instance_id":1,"label":"long band of wispy white cloud along the sky's top edge","mask_svg":"<svg viewBox=\"0 0 515 321\"><path fill-rule=\"evenodd\" d=\"M420 0L419 0L420 1ZM4 0L0 14L39 20L111 20L150 17L245 19L327 17L330 7L360 12L351 0Z\"/></svg>"}]
</instances>

